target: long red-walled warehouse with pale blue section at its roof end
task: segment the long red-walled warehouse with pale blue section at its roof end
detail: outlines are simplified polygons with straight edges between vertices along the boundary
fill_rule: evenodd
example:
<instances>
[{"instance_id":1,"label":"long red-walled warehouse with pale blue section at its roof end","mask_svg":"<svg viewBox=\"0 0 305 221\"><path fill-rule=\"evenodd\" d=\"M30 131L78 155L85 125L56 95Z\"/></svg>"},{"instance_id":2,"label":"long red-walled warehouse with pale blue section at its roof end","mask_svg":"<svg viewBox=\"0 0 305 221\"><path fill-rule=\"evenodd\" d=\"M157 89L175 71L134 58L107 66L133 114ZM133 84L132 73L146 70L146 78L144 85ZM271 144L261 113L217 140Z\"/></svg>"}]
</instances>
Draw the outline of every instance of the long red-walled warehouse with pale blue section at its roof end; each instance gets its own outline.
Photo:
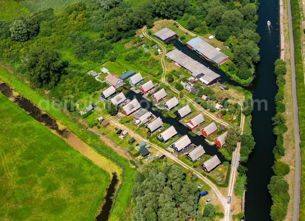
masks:
<instances>
[{"instance_id":1,"label":"long red-walled warehouse with pale blue section at its roof end","mask_svg":"<svg viewBox=\"0 0 305 221\"><path fill-rule=\"evenodd\" d=\"M186 45L198 54L202 55L206 60L213 62L219 66L228 61L229 57L218 51L215 47L205 42L202 38L196 37L189 40Z\"/></svg>"}]
</instances>

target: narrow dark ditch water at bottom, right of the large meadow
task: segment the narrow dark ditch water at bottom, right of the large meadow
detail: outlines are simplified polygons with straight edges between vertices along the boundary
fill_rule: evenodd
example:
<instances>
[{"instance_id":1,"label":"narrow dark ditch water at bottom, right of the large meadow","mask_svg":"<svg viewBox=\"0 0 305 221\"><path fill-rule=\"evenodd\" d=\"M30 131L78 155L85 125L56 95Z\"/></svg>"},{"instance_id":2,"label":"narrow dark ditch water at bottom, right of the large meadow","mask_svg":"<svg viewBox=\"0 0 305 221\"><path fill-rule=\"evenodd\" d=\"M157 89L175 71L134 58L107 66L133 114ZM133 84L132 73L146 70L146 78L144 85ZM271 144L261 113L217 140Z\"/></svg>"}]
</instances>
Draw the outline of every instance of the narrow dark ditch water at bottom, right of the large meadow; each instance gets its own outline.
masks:
<instances>
[{"instance_id":1,"label":"narrow dark ditch water at bottom, right of the large meadow","mask_svg":"<svg viewBox=\"0 0 305 221\"><path fill-rule=\"evenodd\" d=\"M109 214L110 214L110 210L112 207L112 203L113 203L113 195L115 192L115 187L117 185L118 179L117 179L117 174L114 173L111 183L109 185L109 187L107 188L107 194L105 197L105 203L102 206L102 210L100 212L100 214L96 217L97 221L106 221L108 220Z\"/></svg>"}]
</instances>

